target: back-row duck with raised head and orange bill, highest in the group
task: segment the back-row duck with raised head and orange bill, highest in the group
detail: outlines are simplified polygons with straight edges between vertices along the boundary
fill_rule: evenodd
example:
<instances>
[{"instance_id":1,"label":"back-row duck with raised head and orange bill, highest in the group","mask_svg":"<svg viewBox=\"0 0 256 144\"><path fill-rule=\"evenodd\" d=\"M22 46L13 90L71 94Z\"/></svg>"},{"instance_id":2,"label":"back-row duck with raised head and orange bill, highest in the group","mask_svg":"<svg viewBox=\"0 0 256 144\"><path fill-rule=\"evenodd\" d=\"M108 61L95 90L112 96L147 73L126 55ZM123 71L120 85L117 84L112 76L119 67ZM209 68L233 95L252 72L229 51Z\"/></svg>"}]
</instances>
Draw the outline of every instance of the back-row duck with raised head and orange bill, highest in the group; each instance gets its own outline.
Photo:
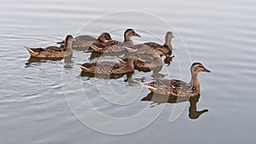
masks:
<instances>
[{"instance_id":1,"label":"back-row duck with raised head and orange bill, highest in the group","mask_svg":"<svg viewBox=\"0 0 256 144\"><path fill-rule=\"evenodd\" d=\"M131 37L141 37L137 32L133 29L126 29L124 32L124 42L119 42L115 40L108 41L107 43L94 43L90 46L90 49L98 53L120 53L123 52L125 49L124 47L133 45L133 41Z\"/></svg>"}]
</instances>

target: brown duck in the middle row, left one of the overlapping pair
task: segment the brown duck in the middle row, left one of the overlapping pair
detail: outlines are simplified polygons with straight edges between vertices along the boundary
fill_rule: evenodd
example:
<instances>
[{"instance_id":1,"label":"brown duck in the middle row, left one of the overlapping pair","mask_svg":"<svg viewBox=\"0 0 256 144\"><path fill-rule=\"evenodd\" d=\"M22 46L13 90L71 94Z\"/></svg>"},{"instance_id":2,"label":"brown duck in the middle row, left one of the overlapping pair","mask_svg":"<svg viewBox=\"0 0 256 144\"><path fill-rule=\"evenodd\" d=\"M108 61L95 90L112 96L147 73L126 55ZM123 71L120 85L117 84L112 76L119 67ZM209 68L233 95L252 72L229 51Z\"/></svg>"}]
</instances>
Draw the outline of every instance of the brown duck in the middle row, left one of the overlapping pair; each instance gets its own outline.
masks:
<instances>
[{"instance_id":1,"label":"brown duck in the middle row, left one of the overlapping pair","mask_svg":"<svg viewBox=\"0 0 256 144\"><path fill-rule=\"evenodd\" d=\"M99 75L124 75L127 72L134 71L134 60L139 59L137 55L128 57L127 62L120 63L114 61L101 61L93 63L78 64L82 72Z\"/></svg>"}]
</instances>

